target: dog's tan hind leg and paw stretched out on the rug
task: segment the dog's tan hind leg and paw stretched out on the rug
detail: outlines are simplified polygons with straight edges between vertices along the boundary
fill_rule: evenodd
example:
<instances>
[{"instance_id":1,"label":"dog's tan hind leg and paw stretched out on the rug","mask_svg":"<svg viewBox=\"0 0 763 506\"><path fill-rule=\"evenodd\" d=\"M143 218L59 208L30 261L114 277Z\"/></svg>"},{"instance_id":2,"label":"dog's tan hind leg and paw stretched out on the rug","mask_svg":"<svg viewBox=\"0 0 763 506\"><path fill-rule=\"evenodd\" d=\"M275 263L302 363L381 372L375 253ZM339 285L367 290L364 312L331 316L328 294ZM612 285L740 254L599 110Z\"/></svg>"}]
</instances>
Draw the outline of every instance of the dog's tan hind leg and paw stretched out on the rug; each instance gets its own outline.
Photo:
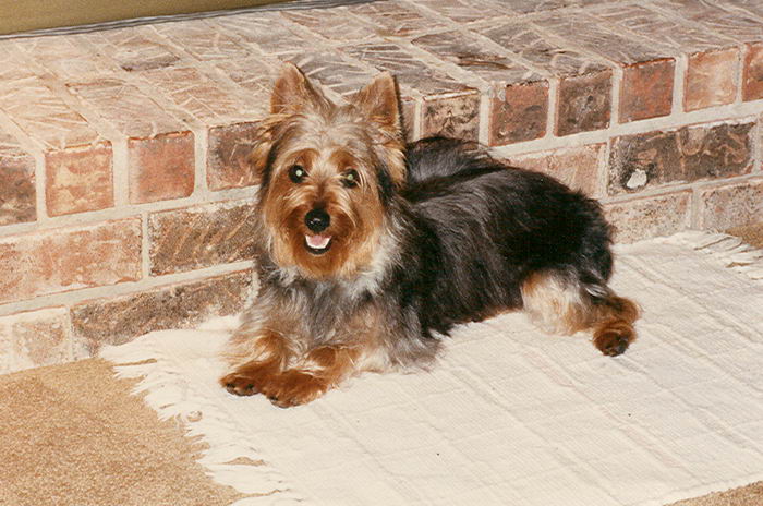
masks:
<instances>
[{"instance_id":1,"label":"dog's tan hind leg and paw stretched out on the rug","mask_svg":"<svg viewBox=\"0 0 763 506\"><path fill-rule=\"evenodd\" d=\"M583 284L556 270L533 273L522 282L522 302L530 318L552 334L591 329L593 344L606 356L626 351L635 339L638 306L602 285Z\"/></svg>"}]
</instances>

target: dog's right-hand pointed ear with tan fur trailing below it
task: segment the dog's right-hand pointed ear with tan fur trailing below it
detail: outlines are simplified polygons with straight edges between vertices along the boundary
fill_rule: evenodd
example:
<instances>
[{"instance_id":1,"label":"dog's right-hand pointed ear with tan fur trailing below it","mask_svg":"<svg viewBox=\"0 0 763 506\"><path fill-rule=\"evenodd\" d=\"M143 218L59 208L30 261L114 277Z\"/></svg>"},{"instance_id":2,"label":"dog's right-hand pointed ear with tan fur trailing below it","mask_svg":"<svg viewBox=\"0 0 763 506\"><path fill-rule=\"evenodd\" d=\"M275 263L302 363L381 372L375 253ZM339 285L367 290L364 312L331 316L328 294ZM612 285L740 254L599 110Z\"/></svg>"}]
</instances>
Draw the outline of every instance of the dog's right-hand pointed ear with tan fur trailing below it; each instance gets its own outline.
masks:
<instances>
[{"instance_id":1,"label":"dog's right-hand pointed ear with tan fur trailing below it","mask_svg":"<svg viewBox=\"0 0 763 506\"><path fill-rule=\"evenodd\" d=\"M376 126L377 133L373 137L377 153L384 159L395 186L401 188L405 182L405 141L395 77L383 72L350 101Z\"/></svg>"}]
</instances>

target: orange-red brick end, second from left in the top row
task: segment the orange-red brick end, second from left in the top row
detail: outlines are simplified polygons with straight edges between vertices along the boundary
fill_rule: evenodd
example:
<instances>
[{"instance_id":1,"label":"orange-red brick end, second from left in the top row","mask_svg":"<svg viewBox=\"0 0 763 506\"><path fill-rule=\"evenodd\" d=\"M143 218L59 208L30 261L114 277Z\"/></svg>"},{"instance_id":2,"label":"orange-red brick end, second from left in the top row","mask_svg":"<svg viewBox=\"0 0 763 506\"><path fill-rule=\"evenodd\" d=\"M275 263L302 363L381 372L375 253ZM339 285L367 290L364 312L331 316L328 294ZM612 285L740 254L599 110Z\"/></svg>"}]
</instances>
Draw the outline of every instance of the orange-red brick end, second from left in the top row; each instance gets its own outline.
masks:
<instances>
[{"instance_id":1,"label":"orange-red brick end, second from left in the top row","mask_svg":"<svg viewBox=\"0 0 763 506\"><path fill-rule=\"evenodd\" d=\"M110 143L45 154L45 198L49 216L113 207Z\"/></svg>"}]
</instances>

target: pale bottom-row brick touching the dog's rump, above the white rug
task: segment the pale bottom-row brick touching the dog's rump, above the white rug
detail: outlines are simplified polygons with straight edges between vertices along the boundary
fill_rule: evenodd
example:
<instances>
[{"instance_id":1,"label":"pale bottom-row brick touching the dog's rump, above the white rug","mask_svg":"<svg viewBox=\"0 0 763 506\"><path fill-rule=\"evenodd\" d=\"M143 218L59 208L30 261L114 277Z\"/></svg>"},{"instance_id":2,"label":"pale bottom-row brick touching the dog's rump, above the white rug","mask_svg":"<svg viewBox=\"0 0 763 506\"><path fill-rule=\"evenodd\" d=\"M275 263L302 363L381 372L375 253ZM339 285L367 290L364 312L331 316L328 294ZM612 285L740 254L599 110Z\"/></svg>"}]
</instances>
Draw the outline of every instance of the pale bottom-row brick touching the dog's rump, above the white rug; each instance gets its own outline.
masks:
<instances>
[{"instance_id":1,"label":"pale bottom-row brick touching the dog's rump, above the white rug","mask_svg":"<svg viewBox=\"0 0 763 506\"><path fill-rule=\"evenodd\" d=\"M691 226L691 192L605 204L604 213L615 227L615 242L670 236Z\"/></svg>"}]
</instances>

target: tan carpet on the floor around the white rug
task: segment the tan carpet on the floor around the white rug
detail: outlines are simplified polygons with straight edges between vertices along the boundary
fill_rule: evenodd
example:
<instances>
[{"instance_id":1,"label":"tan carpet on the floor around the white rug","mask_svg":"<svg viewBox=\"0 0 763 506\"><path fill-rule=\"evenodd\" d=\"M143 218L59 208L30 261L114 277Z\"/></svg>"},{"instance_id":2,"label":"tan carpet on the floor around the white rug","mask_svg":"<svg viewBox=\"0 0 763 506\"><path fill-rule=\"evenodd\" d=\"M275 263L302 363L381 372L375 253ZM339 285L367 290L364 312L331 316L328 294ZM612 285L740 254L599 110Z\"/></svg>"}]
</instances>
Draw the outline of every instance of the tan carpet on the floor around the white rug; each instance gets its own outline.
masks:
<instances>
[{"instance_id":1,"label":"tan carpet on the floor around the white rug","mask_svg":"<svg viewBox=\"0 0 763 506\"><path fill-rule=\"evenodd\" d=\"M731 232L763 248L763 224ZM0 505L216 506L242 497L211 482L194 460L199 444L130 388L100 360L0 376ZM763 482L674 506L761 504Z\"/></svg>"}]
</instances>

